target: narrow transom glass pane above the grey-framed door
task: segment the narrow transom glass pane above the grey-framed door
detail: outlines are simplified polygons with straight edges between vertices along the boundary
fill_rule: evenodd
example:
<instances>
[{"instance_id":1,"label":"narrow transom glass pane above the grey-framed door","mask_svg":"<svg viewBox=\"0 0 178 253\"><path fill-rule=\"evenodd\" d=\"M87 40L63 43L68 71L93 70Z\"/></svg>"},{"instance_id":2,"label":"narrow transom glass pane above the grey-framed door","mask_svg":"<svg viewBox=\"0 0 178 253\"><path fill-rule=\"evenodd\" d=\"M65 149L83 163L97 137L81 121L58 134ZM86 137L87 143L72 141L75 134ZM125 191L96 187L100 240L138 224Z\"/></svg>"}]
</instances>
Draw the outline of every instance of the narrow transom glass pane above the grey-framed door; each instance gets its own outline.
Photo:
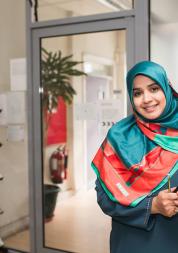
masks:
<instances>
[{"instance_id":1,"label":"narrow transom glass pane above the grey-framed door","mask_svg":"<svg viewBox=\"0 0 178 253\"><path fill-rule=\"evenodd\" d=\"M39 0L39 21L129 10L132 0Z\"/></svg>"}]
</instances>

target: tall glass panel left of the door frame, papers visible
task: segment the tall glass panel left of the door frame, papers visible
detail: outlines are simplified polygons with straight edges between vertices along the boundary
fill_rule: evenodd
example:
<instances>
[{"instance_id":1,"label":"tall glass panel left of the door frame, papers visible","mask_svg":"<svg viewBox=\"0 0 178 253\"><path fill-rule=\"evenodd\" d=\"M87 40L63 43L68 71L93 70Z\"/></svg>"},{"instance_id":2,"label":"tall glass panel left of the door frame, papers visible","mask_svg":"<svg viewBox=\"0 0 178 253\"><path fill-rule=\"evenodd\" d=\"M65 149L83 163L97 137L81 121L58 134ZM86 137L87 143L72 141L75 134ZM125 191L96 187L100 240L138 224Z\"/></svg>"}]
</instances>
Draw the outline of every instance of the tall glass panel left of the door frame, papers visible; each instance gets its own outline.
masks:
<instances>
[{"instance_id":1,"label":"tall glass panel left of the door frame, papers visible","mask_svg":"<svg viewBox=\"0 0 178 253\"><path fill-rule=\"evenodd\" d=\"M29 252L25 1L1 1L0 23L0 251Z\"/></svg>"}]
</instances>

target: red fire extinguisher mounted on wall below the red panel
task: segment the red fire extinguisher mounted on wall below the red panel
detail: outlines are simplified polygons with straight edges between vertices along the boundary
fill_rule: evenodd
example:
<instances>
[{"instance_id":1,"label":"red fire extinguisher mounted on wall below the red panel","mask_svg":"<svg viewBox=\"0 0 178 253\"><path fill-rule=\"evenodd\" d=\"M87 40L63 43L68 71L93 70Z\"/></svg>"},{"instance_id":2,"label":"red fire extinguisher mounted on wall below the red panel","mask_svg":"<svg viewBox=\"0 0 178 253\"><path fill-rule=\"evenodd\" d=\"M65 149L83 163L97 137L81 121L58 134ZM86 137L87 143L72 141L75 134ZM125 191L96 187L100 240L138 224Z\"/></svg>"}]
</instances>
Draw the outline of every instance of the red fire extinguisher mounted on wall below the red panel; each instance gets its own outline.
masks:
<instances>
[{"instance_id":1,"label":"red fire extinguisher mounted on wall below the red panel","mask_svg":"<svg viewBox=\"0 0 178 253\"><path fill-rule=\"evenodd\" d=\"M61 184L67 179L68 154L66 146L59 146L49 159L51 180L53 183Z\"/></svg>"}]
</instances>

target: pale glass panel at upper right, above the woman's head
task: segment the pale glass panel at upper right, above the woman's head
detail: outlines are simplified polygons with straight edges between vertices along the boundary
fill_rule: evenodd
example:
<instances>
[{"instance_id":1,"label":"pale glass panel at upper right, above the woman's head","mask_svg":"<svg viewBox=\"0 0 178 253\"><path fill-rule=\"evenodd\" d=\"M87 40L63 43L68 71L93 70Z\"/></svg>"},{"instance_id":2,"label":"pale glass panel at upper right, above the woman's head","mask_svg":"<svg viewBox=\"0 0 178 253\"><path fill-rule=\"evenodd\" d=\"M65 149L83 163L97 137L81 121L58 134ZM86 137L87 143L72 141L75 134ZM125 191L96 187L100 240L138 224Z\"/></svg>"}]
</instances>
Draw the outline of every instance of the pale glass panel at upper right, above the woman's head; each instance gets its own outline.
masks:
<instances>
[{"instance_id":1,"label":"pale glass panel at upper right, above the woman's head","mask_svg":"<svg viewBox=\"0 0 178 253\"><path fill-rule=\"evenodd\" d=\"M167 71L178 90L178 1L151 0L151 60Z\"/></svg>"}]
</instances>

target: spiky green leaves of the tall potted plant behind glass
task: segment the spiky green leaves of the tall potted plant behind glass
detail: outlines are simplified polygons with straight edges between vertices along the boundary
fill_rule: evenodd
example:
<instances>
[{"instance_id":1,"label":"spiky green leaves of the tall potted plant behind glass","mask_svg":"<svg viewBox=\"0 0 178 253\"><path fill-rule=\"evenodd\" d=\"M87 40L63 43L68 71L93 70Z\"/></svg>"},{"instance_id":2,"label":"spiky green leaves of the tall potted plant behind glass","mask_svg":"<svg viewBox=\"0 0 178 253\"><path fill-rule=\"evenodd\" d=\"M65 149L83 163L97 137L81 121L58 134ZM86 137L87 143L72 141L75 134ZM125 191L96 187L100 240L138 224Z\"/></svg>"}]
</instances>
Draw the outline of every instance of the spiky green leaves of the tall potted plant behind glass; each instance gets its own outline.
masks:
<instances>
[{"instance_id":1,"label":"spiky green leaves of the tall potted plant behind glass","mask_svg":"<svg viewBox=\"0 0 178 253\"><path fill-rule=\"evenodd\" d=\"M62 57L62 52L52 53L42 48L41 82L44 89L43 107L52 112L58 105L58 97L62 97L68 104L72 103L76 91L71 84L72 76L86 75L75 67L82 64L71 60L72 55Z\"/></svg>"}]
</instances>

